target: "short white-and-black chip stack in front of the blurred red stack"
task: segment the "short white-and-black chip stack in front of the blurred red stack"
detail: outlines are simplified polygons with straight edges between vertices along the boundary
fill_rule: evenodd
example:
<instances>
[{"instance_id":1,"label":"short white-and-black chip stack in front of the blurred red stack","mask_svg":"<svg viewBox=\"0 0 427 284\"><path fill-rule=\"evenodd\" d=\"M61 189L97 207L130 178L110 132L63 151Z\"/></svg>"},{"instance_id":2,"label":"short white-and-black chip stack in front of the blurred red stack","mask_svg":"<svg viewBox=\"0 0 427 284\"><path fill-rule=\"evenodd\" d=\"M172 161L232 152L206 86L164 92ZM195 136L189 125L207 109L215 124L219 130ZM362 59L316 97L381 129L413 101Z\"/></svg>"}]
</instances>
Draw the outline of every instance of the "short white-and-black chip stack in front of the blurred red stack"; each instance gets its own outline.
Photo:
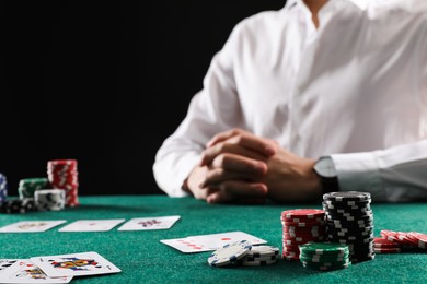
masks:
<instances>
[{"instance_id":1,"label":"short white-and-black chip stack in front of the blurred red stack","mask_svg":"<svg viewBox=\"0 0 427 284\"><path fill-rule=\"evenodd\" d=\"M41 189L35 191L35 203L39 211L59 211L66 205L64 189Z\"/></svg>"}]
</instances>

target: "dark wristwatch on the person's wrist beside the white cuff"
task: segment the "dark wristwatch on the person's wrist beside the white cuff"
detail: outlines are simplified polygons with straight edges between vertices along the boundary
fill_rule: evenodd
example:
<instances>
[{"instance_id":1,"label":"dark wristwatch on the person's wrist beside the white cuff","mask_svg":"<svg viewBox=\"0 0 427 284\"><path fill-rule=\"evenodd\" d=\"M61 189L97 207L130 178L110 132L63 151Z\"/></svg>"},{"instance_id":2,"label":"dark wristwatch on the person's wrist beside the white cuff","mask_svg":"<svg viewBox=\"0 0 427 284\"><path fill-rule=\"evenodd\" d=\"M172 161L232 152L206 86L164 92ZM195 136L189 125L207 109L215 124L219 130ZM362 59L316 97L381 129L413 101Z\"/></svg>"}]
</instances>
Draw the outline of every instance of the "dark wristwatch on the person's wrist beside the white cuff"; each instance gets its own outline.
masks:
<instances>
[{"instance_id":1,"label":"dark wristwatch on the person's wrist beside the white cuff","mask_svg":"<svg viewBox=\"0 0 427 284\"><path fill-rule=\"evenodd\" d=\"M315 162L313 170L321 178L323 193L339 191L338 178L332 157L320 157Z\"/></svg>"}]
</instances>

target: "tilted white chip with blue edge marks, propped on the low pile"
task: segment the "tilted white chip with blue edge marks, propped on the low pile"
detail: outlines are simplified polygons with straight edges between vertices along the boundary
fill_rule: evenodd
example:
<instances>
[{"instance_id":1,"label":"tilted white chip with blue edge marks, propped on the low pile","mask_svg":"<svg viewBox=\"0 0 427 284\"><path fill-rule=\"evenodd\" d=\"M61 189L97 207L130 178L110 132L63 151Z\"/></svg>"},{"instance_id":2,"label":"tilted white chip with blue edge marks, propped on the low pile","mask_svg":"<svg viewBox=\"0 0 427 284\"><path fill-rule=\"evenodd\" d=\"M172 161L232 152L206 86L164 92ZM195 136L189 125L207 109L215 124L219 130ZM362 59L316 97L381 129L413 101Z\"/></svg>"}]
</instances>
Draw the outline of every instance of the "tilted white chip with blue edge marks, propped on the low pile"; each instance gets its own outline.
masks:
<instances>
[{"instance_id":1,"label":"tilted white chip with blue edge marks, propped on the low pile","mask_svg":"<svg viewBox=\"0 0 427 284\"><path fill-rule=\"evenodd\" d=\"M223 267L236 263L241 258L247 255L251 248L252 245L247 240L239 240L227 244L209 256L208 263L211 267Z\"/></svg>"}]
</instances>

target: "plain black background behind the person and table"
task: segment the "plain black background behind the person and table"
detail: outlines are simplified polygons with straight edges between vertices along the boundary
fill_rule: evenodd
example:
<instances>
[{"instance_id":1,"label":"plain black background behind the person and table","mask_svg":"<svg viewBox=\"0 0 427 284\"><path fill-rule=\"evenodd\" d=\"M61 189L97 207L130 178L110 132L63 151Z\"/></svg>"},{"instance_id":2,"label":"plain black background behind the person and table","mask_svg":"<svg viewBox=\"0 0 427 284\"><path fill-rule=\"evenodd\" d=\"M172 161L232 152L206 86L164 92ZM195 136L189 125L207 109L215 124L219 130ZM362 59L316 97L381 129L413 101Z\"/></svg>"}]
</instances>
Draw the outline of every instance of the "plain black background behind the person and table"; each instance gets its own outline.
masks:
<instances>
[{"instance_id":1,"label":"plain black background behind the person and table","mask_svg":"<svg viewBox=\"0 0 427 284\"><path fill-rule=\"evenodd\" d=\"M0 173L76 158L79 194L162 193L154 155L242 19L285 0L0 2Z\"/></svg>"}]
</instances>

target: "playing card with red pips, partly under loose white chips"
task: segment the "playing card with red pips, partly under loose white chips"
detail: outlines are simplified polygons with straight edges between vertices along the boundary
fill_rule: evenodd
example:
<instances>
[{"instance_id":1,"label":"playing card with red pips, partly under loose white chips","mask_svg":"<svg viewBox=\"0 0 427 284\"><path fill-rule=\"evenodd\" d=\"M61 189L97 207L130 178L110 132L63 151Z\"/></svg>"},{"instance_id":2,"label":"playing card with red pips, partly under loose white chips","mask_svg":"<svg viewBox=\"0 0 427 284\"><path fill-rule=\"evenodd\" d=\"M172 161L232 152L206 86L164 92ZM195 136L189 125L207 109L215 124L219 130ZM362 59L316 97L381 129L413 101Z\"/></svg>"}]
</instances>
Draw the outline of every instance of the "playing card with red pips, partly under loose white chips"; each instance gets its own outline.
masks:
<instances>
[{"instance_id":1,"label":"playing card with red pips, partly under loose white chips","mask_svg":"<svg viewBox=\"0 0 427 284\"><path fill-rule=\"evenodd\" d=\"M264 239L252 236L244 232L227 232L219 234L191 236L185 238L162 239L160 241L182 252L188 253L217 250L222 248L224 245L236 240L247 240L252 245L267 242Z\"/></svg>"}]
</instances>

